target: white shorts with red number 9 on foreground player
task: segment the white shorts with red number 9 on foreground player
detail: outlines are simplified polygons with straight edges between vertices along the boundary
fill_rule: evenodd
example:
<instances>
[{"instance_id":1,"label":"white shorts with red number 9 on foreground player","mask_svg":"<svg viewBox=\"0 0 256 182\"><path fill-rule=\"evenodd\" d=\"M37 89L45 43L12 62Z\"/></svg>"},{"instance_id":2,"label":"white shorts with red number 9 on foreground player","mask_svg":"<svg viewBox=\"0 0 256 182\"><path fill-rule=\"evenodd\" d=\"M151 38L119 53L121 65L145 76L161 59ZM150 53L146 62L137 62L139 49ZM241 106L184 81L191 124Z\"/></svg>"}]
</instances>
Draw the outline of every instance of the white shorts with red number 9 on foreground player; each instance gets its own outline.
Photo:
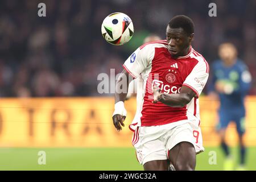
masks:
<instances>
[{"instance_id":1,"label":"white shorts with red number 9 on foreground player","mask_svg":"<svg viewBox=\"0 0 256 182\"><path fill-rule=\"evenodd\" d=\"M204 151L199 121L178 121L159 126L137 127L133 135L138 162L168 159L168 151L180 142L192 143L196 154Z\"/></svg>"}]
</instances>

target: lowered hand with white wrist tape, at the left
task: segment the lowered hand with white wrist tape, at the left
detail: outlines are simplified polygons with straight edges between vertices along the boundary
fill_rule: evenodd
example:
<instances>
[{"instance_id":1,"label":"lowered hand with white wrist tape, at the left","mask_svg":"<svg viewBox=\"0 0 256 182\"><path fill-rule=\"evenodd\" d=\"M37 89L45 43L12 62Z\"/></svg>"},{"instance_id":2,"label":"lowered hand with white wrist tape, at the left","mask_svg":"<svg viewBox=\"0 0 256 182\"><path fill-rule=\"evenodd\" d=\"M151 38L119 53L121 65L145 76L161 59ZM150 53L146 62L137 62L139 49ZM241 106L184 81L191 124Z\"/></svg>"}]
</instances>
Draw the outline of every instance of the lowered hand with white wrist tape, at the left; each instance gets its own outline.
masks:
<instances>
[{"instance_id":1,"label":"lowered hand with white wrist tape, at the left","mask_svg":"<svg viewBox=\"0 0 256 182\"><path fill-rule=\"evenodd\" d=\"M126 114L127 114L127 111L125 109L125 105L123 104L123 102L122 101L117 102L115 104L115 110L114 110L112 119L113 119L114 126L118 131L122 130L122 126L123 127L125 126L123 122L125 121Z\"/></svg>"}]
</instances>

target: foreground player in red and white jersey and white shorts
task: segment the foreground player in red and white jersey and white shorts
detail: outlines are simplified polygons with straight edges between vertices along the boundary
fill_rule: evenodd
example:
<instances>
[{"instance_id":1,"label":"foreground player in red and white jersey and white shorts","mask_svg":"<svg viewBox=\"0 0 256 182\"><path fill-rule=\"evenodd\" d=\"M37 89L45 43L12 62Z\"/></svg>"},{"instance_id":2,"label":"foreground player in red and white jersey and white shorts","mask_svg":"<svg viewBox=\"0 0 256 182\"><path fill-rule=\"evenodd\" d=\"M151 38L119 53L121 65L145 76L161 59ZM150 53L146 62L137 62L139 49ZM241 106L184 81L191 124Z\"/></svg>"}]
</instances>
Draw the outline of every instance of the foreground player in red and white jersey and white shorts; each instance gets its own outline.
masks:
<instances>
[{"instance_id":1,"label":"foreground player in red and white jersey and white shorts","mask_svg":"<svg viewBox=\"0 0 256 182\"><path fill-rule=\"evenodd\" d=\"M137 112L129 126L133 146L144 170L195 170L196 154L204 151L200 130L199 96L209 76L209 65L196 52L194 24L188 16L168 23L167 40L139 47L123 64L116 83L113 123L120 131L126 118L123 80L137 78Z\"/></svg>"}]
</instances>

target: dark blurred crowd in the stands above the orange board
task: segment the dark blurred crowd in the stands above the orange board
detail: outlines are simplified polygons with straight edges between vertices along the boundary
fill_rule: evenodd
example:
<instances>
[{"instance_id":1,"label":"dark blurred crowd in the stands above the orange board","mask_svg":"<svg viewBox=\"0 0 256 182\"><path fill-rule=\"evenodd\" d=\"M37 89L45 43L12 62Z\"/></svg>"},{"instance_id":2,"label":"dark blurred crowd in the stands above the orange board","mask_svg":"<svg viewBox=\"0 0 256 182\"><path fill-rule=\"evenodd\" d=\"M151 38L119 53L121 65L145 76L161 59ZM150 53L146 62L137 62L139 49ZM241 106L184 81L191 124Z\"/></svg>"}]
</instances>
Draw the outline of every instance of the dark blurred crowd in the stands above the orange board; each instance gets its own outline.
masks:
<instances>
[{"instance_id":1,"label":"dark blurred crowd in the stands above the orange board","mask_svg":"<svg viewBox=\"0 0 256 182\"><path fill-rule=\"evenodd\" d=\"M46 4L46 17L38 4ZM209 3L217 17L208 15ZM256 1L5 0L0 1L0 97L99 96L97 76L115 74L149 34L165 39L177 14L195 22L193 47L212 63L217 48L232 42L256 77ZM130 16L134 36L112 46L101 35L102 20L113 12ZM256 94L256 82L250 94ZM108 95L108 94L104 94Z\"/></svg>"}]
</instances>

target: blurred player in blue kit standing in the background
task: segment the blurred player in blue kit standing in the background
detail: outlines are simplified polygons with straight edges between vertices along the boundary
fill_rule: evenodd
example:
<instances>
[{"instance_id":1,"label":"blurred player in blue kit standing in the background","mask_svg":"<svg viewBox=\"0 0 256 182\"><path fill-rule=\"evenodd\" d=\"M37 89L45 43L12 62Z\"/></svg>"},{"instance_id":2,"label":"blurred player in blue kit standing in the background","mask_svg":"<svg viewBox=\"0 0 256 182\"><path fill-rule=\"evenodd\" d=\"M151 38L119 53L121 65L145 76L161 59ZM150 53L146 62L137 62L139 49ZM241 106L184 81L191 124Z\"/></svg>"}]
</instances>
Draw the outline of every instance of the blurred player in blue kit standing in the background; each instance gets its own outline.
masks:
<instances>
[{"instance_id":1,"label":"blurred player in blue kit standing in the background","mask_svg":"<svg viewBox=\"0 0 256 182\"><path fill-rule=\"evenodd\" d=\"M221 148L225 153L224 170L233 170L234 163L228 145L225 142L226 127L230 121L237 126L240 144L239 170L245 169L246 147L243 142L245 134L244 98L250 88L251 75L242 60L237 58L237 49L231 43L221 44L218 49L220 60L212 64L212 79L209 96L220 98L218 110L218 131L221 137Z\"/></svg>"}]
</instances>

